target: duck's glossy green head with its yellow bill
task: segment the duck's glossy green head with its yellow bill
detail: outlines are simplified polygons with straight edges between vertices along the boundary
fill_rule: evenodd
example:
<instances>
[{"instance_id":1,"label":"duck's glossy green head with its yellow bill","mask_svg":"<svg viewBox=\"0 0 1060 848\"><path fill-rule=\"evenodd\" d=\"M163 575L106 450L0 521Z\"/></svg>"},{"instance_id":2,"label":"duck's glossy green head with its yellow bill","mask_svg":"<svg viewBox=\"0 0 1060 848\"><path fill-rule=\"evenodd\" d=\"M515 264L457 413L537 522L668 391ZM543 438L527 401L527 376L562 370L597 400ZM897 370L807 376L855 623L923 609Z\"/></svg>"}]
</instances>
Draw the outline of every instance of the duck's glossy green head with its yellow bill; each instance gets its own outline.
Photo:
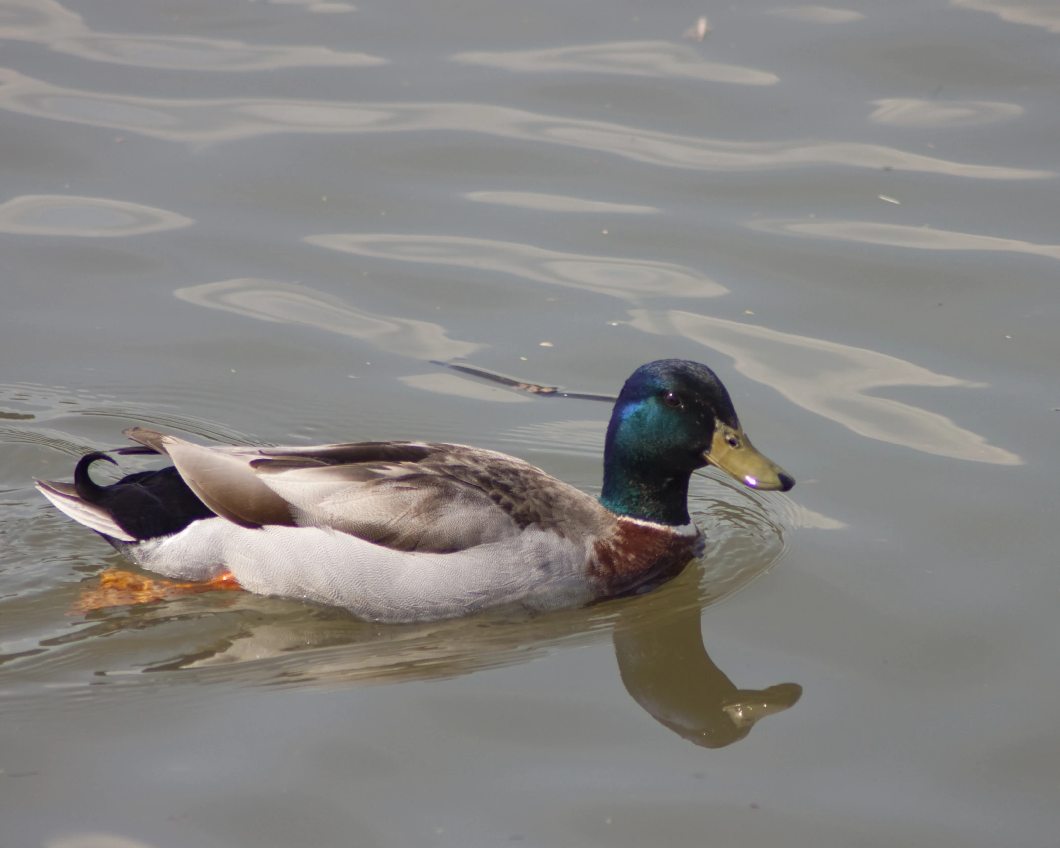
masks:
<instances>
[{"instance_id":1,"label":"duck's glossy green head with its yellow bill","mask_svg":"<svg viewBox=\"0 0 1060 848\"><path fill-rule=\"evenodd\" d=\"M658 359L634 371L607 425L600 502L620 515L688 524L688 478L708 463L752 489L795 485L752 446L709 368Z\"/></svg>"}]
</instances>

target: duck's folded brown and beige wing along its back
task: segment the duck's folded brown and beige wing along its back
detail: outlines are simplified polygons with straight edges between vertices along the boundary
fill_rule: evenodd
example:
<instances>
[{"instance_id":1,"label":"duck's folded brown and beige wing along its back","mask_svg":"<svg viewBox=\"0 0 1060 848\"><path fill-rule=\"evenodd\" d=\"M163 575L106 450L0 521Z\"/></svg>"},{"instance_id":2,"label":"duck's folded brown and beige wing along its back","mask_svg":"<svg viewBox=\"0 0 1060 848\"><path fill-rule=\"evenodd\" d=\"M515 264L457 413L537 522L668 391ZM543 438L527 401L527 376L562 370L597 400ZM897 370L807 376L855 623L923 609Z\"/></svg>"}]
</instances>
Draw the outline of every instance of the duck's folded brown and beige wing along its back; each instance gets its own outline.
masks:
<instances>
[{"instance_id":1,"label":"duck's folded brown and beige wing along its back","mask_svg":"<svg viewBox=\"0 0 1060 848\"><path fill-rule=\"evenodd\" d=\"M492 450L424 442L201 447L140 428L218 515L245 527L326 527L400 550L448 552L535 525L561 536L614 520L588 495Z\"/></svg>"}]
</instances>

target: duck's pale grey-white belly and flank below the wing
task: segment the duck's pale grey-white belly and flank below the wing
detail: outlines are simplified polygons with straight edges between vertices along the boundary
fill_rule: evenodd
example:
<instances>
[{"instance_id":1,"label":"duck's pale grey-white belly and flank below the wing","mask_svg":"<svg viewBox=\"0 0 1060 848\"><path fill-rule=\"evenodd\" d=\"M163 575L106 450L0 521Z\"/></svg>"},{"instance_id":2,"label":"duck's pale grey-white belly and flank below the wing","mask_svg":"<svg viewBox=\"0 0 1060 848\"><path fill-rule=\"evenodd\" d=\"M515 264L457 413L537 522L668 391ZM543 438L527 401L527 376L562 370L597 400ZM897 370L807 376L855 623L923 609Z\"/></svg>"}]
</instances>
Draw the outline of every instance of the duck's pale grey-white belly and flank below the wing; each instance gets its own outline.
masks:
<instances>
[{"instance_id":1,"label":"duck's pale grey-white belly and flank below the wing","mask_svg":"<svg viewBox=\"0 0 1060 848\"><path fill-rule=\"evenodd\" d=\"M251 530L217 517L194 522L162 540L129 545L127 553L166 577L210 580L230 571L250 591L334 604L360 618L401 623L504 603L540 612L587 603L596 593L585 573L584 548L568 546L554 533L528 529L459 552L427 553L394 550L336 530Z\"/></svg>"}]
</instances>

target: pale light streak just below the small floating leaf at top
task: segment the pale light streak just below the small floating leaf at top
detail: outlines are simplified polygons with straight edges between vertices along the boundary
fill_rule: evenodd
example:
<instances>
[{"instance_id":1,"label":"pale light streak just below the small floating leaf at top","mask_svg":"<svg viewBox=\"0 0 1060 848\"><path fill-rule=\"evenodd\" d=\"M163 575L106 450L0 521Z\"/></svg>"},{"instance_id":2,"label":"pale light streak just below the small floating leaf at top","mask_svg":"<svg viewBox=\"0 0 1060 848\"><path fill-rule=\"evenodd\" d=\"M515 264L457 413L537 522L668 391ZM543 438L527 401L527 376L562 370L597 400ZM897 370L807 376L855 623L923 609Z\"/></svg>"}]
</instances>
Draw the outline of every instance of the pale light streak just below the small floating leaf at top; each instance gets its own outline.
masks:
<instances>
[{"instance_id":1,"label":"pale light streak just below the small floating leaf at top","mask_svg":"<svg viewBox=\"0 0 1060 848\"><path fill-rule=\"evenodd\" d=\"M524 73L573 71L669 76L744 86L772 86L780 80L768 71L708 61L691 48L671 41L613 41L546 50L458 53L450 58L461 65L483 65Z\"/></svg>"}]
</instances>

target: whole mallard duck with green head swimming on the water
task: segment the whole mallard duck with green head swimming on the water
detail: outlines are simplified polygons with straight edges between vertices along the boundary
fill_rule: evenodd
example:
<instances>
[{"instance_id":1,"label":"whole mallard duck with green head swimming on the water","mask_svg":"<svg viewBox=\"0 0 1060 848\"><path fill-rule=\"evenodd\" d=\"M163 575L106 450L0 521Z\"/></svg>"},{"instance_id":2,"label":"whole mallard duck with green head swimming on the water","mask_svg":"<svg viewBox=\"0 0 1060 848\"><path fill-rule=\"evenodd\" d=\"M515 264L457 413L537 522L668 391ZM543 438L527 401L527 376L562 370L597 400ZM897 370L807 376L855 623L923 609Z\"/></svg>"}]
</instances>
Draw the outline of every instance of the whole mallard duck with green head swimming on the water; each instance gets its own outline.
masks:
<instances>
[{"instance_id":1,"label":"whole mallard duck with green head swimming on the water","mask_svg":"<svg viewBox=\"0 0 1060 848\"><path fill-rule=\"evenodd\" d=\"M205 586L346 607L383 622L429 621L498 604L545 612L637 594L702 550L688 515L693 471L745 485L795 480L750 444L706 366L638 368L615 404L600 499L520 459L457 444L352 442L205 447L132 427L174 465L112 485L38 480L59 510L141 567Z\"/></svg>"}]
</instances>

